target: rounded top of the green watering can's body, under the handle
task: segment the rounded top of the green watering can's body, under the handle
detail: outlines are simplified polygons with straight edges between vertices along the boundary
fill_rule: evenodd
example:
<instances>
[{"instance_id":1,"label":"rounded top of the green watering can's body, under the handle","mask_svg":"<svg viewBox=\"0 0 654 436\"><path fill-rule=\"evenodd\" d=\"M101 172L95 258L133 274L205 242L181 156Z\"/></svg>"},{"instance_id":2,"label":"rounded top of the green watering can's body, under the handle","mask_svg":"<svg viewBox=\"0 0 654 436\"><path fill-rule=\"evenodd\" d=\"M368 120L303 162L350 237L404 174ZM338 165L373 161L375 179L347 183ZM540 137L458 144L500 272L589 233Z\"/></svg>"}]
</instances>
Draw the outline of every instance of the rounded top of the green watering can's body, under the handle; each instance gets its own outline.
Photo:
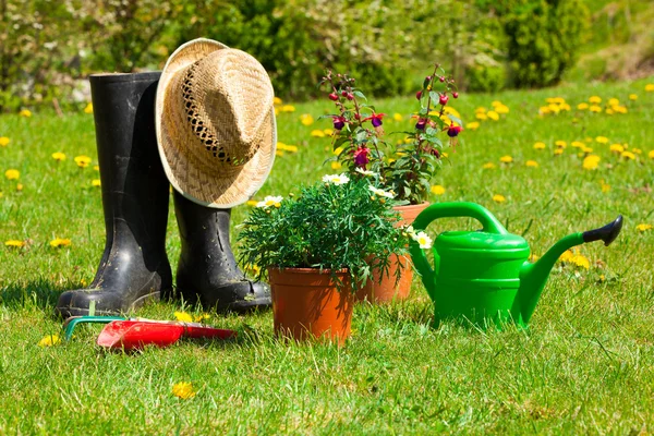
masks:
<instances>
[{"instance_id":1,"label":"rounded top of the green watering can's body, under the handle","mask_svg":"<svg viewBox=\"0 0 654 436\"><path fill-rule=\"evenodd\" d=\"M483 231L446 231L436 239L438 253L444 252L493 252L496 256L506 253L509 257L529 257L529 244L517 234L497 234Z\"/></svg>"}]
</instances>

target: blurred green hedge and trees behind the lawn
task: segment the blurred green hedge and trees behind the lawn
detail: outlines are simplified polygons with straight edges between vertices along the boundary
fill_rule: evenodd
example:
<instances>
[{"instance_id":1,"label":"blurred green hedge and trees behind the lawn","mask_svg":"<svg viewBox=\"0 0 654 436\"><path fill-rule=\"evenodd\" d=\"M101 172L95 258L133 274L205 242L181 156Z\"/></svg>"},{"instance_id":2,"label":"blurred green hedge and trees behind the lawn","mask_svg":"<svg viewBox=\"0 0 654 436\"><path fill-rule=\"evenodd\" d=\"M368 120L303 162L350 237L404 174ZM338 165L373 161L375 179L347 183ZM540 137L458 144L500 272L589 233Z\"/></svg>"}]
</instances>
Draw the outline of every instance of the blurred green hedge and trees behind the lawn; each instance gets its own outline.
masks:
<instances>
[{"instance_id":1,"label":"blurred green hedge and trees behind the lawn","mask_svg":"<svg viewBox=\"0 0 654 436\"><path fill-rule=\"evenodd\" d=\"M653 11L649 0L0 0L0 111L83 105L88 74L161 69L196 37L252 53L295 100L316 95L326 68L377 96L416 88L434 61L472 92L621 78L654 69Z\"/></svg>"}]
</instances>

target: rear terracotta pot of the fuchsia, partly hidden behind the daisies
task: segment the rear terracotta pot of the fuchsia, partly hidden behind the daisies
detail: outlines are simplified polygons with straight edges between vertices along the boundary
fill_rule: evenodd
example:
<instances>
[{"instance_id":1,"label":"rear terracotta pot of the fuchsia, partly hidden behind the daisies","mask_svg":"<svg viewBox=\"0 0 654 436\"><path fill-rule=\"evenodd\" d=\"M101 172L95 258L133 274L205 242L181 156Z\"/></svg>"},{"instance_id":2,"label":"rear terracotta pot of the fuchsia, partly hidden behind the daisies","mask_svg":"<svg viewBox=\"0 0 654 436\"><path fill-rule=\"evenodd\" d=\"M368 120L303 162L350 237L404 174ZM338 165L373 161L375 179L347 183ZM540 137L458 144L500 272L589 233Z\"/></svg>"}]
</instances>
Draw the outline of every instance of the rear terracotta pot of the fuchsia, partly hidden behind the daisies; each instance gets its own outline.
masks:
<instances>
[{"instance_id":1,"label":"rear terracotta pot of the fuchsia, partly hidden behind the daisies","mask_svg":"<svg viewBox=\"0 0 654 436\"><path fill-rule=\"evenodd\" d=\"M417 205L396 206L402 217L398 221L398 226L409 226L415 217L423 211L429 203L421 203ZM393 300L404 300L409 296L411 290L411 281L413 280L413 269L411 268L411 256L401 256L400 266L397 265L397 255L390 257L390 268L388 276L382 277L379 282L380 271L373 270L373 280L368 280L363 288L356 292L356 300L367 300L371 303L386 303ZM396 283L397 269L400 268L400 280Z\"/></svg>"}]
</instances>

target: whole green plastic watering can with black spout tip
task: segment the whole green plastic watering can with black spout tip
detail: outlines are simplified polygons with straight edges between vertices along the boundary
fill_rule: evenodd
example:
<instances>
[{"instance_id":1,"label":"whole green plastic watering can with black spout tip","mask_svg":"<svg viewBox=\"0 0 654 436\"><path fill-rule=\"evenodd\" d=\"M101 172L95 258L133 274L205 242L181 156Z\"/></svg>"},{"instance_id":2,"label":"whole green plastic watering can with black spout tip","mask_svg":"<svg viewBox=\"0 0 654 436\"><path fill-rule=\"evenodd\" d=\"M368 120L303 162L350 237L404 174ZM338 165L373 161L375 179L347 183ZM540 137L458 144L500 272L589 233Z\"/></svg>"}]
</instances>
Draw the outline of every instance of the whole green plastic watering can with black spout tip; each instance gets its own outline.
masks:
<instances>
[{"instance_id":1,"label":"whole green plastic watering can with black spout tip","mask_svg":"<svg viewBox=\"0 0 654 436\"><path fill-rule=\"evenodd\" d=\"M411 257L435 305L434 323L445 318L468 318L485 327L514 322L526 327L555 262L566 251L592 241L610 244L620 233L622 216L611 223L558 241L536 263L529 262L526 241L510 234L486 208L474 203L439 203L424 209L415 231L438 218L470 217L482 231L446 231L434 243L434 268L417 242L411 242Z\"/></svg>"}]
</instances>

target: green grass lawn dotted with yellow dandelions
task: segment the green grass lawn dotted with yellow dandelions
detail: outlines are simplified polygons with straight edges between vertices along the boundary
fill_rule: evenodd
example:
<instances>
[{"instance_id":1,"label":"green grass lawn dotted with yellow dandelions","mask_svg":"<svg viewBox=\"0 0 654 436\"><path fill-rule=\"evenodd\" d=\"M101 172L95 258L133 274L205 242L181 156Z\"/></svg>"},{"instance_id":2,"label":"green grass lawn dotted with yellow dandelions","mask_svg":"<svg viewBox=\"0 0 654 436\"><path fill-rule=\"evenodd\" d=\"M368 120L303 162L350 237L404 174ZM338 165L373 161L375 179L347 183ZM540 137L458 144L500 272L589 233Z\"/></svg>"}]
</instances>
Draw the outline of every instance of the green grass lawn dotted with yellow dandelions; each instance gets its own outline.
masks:
<instances>
[{"instance_id":1,"label":"green grass lawn dotted with yellow dandelions","mask_svg":"<svg viewBox=\"0 0 654 436\"><path fill-rule=\"evenodd\" d=\"M104 221L93 116L35 113L0 117L0 434L645 434L654 431L654 82L569 86L498 95L462 95L452 104L464 121L494 100L510 112L467 129L449 150L434 184L433 202L471 201L489 208L509 231L542 255L561 237L604 226L622 214L622 234L609 247L581 246L559 263L529 331L479 331L455 323L431 326L432 302L414 281L411 298L387 306L355 308L353 335L338 349L288 344L272 335L271 312L213 316L240 331L238 340L180 342L136 355L105 353L98 326L73 341L39 347L60 334L52 316L60 292L89 283L104 247ZM635 94L637 100L629 95ZM628 113L590 113L577 105L618 98ZM548 97L569 112L538 116ZM387 132L409 125L413 98L377 101ZM303 125L331 109L318 101L278 117L279 141L298 153L277 158L257 194L287 195L298 184L332 173L328 137L315 137L327 120ZM603 143L603 137L607 138ZM393 137L397 138L397 137ZM588 141L586 141L588 138ZM556 141L566 142L555 155ZM534 144L543 142L544 149ZM582 142L600 157L583 168ZM611 144L628 144L620 157ZM579 145L579 144L574 144ZM51 155L62 152L65 160ZM639 153L640 152L640 153ZM85 169L73 158L92 157ZM510 156L511 164L500 162ZM533 160L537 167L528 166ZM493 165L487 165L493 164ZM531 164L533 165L533 164ZM487 168L494 167L494 168ZM9 169L20 171L8 180ZM22 190L17 185L22 184ZM505 197L495 202L495 195ZM247 206L233 213L232 231ZM167 249L180 252L174 214ZM469 219L439 220L444 229L476 229ZM646 226L641 227L642 229ZM56 238L71 245L50 246ZM9 240L27 241L22 249ZM581 257L583 256L583 257ZM583 264L583 262L579 262ZM196 307L159 303L140 316L172 319ZM172 386L197 391L183 400Z\"/></svg>"}]
</instances>

